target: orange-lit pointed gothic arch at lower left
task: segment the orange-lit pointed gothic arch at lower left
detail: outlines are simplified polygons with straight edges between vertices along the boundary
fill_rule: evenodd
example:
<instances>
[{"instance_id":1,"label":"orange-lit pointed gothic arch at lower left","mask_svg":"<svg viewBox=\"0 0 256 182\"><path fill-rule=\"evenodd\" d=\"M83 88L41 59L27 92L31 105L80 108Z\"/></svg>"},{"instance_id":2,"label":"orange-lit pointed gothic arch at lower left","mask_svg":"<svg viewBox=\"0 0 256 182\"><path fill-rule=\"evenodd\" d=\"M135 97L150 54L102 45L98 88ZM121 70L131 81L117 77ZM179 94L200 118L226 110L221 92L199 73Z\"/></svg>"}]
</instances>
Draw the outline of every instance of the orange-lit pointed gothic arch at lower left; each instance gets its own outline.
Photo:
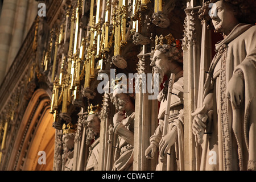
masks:
<instances>
[{"instance_id":1,"label":"orange-lit pointed gothic arch at lower left","mask_svg":"<svg viewBox=\"0 0 256 182\"><path fill-rule=\"evenodd\" d=\"M55 129L50 107L51 98L47 91L36 90L20 123L9 161L10 170L52 170ZM46 152L46 164L38 164L39 151Z\"/></svg>"}]
</instances>

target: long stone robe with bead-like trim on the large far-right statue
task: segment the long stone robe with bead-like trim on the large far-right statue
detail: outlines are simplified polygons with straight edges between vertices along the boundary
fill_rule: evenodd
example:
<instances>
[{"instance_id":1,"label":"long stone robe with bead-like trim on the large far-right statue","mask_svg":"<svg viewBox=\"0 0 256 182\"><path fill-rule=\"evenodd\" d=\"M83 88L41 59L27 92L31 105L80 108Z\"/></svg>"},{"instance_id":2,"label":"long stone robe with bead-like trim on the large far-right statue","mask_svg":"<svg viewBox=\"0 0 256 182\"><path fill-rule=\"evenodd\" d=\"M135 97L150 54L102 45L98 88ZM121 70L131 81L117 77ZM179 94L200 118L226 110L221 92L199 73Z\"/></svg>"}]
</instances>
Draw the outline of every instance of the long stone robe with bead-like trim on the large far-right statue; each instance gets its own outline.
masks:
<instances>
[{"instance_id":1,"label":"long stone robe with bead-like trim on the large far-right statue","mask_svg":"<svg viewBox=\"0 0 256 182\"><path fill-rule=\"evenodd\" d=\"M255 170L256 26L238 24L216 44L216 51L204 85L204 97L213 94L213 115L207 121L200 169ZM232 109L226 87L239 69L244 101L240 109Z\"/></svg>"}]
</instances>

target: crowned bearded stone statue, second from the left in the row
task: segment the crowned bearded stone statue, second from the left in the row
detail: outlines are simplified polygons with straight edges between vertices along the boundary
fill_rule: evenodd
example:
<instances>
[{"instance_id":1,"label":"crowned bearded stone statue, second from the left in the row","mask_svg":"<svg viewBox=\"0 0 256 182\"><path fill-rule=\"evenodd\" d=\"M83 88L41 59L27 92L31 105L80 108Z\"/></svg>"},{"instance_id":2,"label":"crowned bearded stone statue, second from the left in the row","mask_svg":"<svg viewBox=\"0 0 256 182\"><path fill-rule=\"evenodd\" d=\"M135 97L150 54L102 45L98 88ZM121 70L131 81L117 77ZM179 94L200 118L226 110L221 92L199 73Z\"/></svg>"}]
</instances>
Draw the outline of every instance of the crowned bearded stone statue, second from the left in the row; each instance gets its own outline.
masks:
<instances>
[{"instance_id":1,"label":"crowned bearded stone statue, second from the left in the row","mask_svg":"<svg viewBox=\"0 0 256 182\"><path fill-rule=\"evenodd\" d=\"M86 145L89 147L89 156L86 163L86 171L97 171L98 158L99 158L99 143L100 143L100 107L90 105L88 111L88 118L86 123L88 129L86 129ZM93 143L92 143L93 142Z\"/></svg>"}]
</instances>

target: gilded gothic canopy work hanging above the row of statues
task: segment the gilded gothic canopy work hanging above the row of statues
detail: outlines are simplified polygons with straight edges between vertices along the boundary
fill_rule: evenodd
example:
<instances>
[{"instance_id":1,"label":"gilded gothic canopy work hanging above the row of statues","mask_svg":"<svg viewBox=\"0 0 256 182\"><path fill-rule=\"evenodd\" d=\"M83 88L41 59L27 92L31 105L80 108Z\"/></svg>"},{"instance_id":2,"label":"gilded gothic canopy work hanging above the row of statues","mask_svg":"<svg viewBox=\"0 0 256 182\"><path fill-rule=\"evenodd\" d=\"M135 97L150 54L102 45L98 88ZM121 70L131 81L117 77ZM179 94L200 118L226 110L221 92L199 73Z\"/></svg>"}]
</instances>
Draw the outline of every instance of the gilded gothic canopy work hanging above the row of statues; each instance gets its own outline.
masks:
<instances>
[{"instance_id":1,"label":"gilded gothic canopy work hanging above the row of statues","mask_svg":"<svg viewBox=\"0 0 256 182\"><path fill-rule=\"evenodd\" d=\"M91 0L88 28L84 29L84 1L77 0L65 8L60 26L53 26L48 48L44 51L42 66L45 71L52 65L51 82L53 94L51 113L67 113L69 104L80 97L82 87L89 88L96 72L104 69L110 50L114 56L121 55L126 46L127 18L132 17L131 34L141 30L140 12L149 1L133 1L132 13L128 11L127 0ZM96 9L94 8L96 7ZM155 1L155 10L162 10L162 1ZM113 28L110 28L113 27ZM70 27L70 30L68 30ZM68 42L68 34L70 34ZM67 53L59 54L60 48L68 45ZM59 60L60 58L60 60ZM60 68L58 66L60 65ZM60 108L61 107L61 108ZM57 119L57 117L55 117Z\"/></svg>"}]
</instances>

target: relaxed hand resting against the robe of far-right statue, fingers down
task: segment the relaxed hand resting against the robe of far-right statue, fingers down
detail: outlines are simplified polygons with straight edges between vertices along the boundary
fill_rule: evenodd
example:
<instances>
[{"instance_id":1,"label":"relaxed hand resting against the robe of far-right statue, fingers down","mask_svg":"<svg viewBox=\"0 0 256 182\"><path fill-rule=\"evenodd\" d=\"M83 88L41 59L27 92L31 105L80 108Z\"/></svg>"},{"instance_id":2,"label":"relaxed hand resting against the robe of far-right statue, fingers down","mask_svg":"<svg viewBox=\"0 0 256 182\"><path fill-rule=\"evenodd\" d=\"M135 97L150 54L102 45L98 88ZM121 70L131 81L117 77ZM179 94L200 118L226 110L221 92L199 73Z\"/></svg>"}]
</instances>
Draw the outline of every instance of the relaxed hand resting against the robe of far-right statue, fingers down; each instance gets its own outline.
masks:
<instances>
[{"instance_id":1,"label":"relaxed hand resting against the robe of far-right statue, fingers down","mask_svg":"<svg viewBox=\"0 0 256 182\"><path fill-rule=\"evenodd\" d=\"M245 84L238 75L233 75L226 87L226 97L229 98L232 107L238 109L243 102Z\"/></svg>"}]
</instances>

